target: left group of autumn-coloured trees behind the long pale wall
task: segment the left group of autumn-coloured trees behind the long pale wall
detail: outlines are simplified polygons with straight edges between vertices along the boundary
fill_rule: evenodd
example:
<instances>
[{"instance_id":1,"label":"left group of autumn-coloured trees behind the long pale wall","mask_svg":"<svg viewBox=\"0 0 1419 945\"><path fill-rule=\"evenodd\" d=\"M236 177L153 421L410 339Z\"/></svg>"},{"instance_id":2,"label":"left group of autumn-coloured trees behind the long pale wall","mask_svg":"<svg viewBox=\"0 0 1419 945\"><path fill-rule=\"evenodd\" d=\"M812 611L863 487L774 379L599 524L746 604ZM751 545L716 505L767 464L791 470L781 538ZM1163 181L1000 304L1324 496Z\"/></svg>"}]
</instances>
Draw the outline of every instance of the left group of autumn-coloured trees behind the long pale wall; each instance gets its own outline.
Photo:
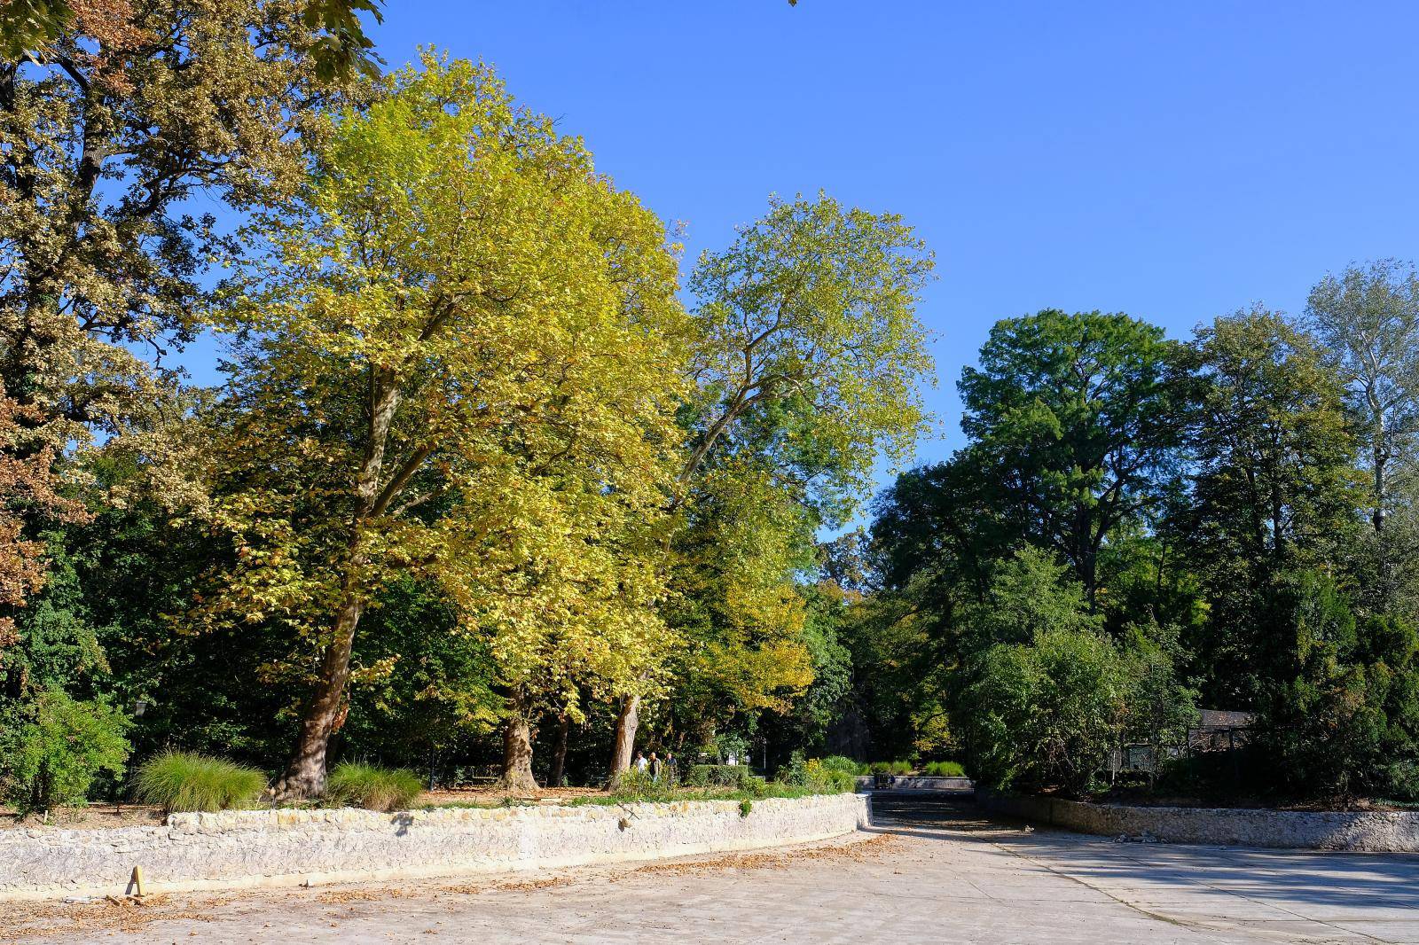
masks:
<instances>
[{"instance_id":1,"label":"left group of autumn-coloured trees behind the long pale wall","mask_svg":"<svg viewBox=\"0 0 1419 945\"><path fill-rule=\"evenodd\" d=\"M372 75L349 7L6 37L9 797L165 749L299 799L338 759L525 789L744 758L768 717L822 741L847 599L816 536L924 429L929 253L775 199L681 285L580 139L481 65ZM170 368L201 332L211 390Z\"/></svg>"}]
</instances>

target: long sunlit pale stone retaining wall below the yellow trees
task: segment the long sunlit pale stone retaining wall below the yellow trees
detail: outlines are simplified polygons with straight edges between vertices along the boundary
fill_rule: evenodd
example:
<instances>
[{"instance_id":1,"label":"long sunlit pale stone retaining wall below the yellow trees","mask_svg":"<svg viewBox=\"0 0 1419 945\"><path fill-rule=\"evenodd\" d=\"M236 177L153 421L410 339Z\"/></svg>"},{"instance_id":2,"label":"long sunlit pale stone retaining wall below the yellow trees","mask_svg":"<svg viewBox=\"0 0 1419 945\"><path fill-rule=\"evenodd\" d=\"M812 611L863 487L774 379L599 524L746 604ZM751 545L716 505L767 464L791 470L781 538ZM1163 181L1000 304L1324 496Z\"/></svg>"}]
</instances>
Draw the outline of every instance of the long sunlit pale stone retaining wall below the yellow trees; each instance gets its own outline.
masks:
<instances>
[{"instance_id":1,"label":"long sunlit pale stone retaining wall below the yellow trees","mask_svg":"<svg viewBox=\"0 0 1419 945\"><path fill-rule=\"evenodd\" d=\"M668 805L172 814L162 827L0 830L0 898L455 875L751 850L867 824L867 799L824 795Z\"/></svg>"}]
</instances>

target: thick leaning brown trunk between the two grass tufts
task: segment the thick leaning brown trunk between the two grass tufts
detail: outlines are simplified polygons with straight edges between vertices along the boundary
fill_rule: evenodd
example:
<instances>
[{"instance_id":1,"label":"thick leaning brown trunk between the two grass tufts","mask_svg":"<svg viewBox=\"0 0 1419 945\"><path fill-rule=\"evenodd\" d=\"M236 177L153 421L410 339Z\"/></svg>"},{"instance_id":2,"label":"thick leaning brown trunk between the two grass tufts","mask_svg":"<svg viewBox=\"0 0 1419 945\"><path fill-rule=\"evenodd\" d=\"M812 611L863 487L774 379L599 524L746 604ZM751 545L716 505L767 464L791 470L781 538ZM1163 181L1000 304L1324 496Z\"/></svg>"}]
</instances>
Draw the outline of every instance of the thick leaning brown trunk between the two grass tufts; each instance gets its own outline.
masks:
<instances>
[{"instance_id":1,"label":"thick leaning brown trunk between the two grass tufts","mask_svg":"<svg viewBox=\"0 0 1419 945\"><path fill-rule=\"evenodd\" d=\"M331 641L321 658L321 675L315 692L305 707L301 719L301 734L295 742L295 753L285 778L277 782L272 793L280 800L318 797L325 793L325 763L331 735L341 722L341 701L350 674L350 650L355 646L355 630L365 613L363 572L369 565L363 529L366 522L379 515L389 495L380 495L379 481L385 470L385 448L389 430L399 409L399 382L394 372L373 368L369 376L369 413L365 438L365 454L360 458L355 480L355 512L350 516L349 560L345 566L345 580L341 587L341 603L331 620ZM404 477L407 481L407 477ZM390 482L386 492L394 492L402 482Z\"/></svg>"}]
</instances>

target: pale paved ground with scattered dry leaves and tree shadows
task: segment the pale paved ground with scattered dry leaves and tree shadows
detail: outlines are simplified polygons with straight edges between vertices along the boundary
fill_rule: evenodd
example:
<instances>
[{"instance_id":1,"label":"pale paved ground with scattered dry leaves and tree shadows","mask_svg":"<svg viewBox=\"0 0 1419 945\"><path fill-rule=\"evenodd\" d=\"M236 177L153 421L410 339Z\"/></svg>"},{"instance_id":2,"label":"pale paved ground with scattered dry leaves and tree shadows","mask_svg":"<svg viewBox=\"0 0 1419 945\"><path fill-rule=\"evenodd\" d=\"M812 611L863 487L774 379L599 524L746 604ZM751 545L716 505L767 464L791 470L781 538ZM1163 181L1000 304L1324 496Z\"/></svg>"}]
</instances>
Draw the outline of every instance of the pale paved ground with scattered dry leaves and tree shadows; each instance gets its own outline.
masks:
<instances>
[{"instance_id":1,"label":"pale paved ground with scattered dry leaves and tree shadows","mask_svg":"<svg viewBox=\"0 0 1419 945\"><path fill-rule=\"evenodd\" d=\"M1419 942L1419 856L1115 843L900 795L874 797L874 822L675 863L21 907L0 941Z\"/></svg>"}]
</instances>

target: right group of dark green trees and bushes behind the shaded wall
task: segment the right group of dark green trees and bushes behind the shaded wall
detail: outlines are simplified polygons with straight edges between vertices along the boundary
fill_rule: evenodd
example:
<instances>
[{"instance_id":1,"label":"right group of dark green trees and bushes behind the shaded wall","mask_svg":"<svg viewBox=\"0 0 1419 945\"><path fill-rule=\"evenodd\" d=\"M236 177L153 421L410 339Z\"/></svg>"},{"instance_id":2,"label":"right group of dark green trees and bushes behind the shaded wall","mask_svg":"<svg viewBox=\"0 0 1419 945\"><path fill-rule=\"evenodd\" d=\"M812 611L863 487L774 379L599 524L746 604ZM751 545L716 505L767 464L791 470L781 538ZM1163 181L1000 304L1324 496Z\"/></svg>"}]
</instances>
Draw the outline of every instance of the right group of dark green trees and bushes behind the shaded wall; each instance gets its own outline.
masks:
<instances>
[{"instance_id":1,"label":"right group of dark green trees and bushes behind the shaded wall","mask_svg":"<svg viewBox=\"0 0 1419 945\"><path fill-rule=\"evenodd\" d=\"M1205 707L1256 715L1246 769L1182 759L1169 790L1419 796L1412 267L1188 342L1122 314L1006 319L959 392L968 444L880 499L854 617L894 748L1084 792Z\"/></svg>"}]
</instances>

